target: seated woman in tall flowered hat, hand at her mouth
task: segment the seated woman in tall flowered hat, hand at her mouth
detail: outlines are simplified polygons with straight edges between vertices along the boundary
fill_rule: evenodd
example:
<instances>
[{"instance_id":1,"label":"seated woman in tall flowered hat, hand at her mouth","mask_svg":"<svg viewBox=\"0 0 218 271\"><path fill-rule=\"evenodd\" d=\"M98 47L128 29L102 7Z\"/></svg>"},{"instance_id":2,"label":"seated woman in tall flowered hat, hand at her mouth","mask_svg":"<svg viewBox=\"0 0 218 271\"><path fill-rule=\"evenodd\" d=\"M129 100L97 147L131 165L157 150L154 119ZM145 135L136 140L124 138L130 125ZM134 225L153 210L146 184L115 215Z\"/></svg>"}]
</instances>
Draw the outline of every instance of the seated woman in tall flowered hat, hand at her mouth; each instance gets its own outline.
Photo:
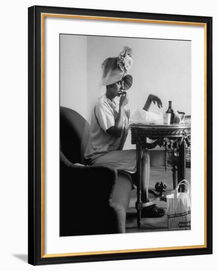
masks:
<instances>
[{"instance_id":1,"label":"seated woman in tall flowered hat, hand at her mouth","mask_svg":"<svg viewBox=\"0 0 218 271\"><path fill-rule=\"evenodd\" d=\"M107 165L117 170L136 172L136 150L122 150L128 134L130 117L130 109L127 105L128 95L125 90L132 85L132 76L128 74L132 66L131 51L130 48L124 47L124 51L118 58L107 58L102 64L102 83L106 86L106 93L98 99L92 112L90 139L85 151L87 165ZM143 109L147 111L151 102L157 102L158 107L162 107L161 100L150 94ZM149 153L144 149L142 155L143 203L149 201L149 173ZM165 210L158 208L155 204L145 206L142 210L142 217L161 217L164 214Z\"/></svg>"}]
</instances>

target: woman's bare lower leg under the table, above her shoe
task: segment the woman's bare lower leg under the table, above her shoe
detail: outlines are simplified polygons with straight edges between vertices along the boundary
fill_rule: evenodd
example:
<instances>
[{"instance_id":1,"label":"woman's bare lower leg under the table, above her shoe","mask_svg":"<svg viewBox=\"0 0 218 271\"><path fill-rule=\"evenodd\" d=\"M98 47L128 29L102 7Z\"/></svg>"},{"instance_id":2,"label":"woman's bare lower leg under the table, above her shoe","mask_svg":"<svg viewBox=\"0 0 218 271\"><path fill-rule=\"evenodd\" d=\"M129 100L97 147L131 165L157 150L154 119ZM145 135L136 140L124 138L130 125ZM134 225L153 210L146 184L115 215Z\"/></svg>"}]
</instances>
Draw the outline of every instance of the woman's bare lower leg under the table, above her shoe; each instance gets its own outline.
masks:
<instances>
[{"instance_id":1,"label":"woman's bare lower leg under the table, above her shoe","mask_svg":"<svg viewBox=\"0 0 218 271\"><path fill-rule=\"evenodd\" d=\"M142 202L148 202L148 186L150 179L150 156L148 150L143 150L142 156Z\"/></svg>"}]
</instances>

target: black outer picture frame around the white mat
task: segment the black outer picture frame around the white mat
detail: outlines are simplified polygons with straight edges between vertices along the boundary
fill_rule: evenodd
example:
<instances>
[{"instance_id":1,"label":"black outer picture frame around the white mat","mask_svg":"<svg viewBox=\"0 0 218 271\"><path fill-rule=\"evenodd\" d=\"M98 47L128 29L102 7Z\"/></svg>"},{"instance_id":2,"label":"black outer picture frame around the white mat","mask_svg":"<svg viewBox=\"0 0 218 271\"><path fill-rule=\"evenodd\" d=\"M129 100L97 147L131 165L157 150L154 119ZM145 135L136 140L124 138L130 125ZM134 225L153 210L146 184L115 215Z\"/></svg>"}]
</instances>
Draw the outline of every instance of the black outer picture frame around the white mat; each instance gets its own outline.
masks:
<instances>
[{"instance_id":1,"label":"black outer picture frame around the white mat","mask_svg":"<svg viewBox=\"0 0 218 271\"><path fill-rule=\"evenodd\" d=\"M43 252L41 200L43 189L41 183L42 141L44 120L41 112L41 14L69 14L82 16L101 16L115 18L131 18L144 20L158 20L168 22L189 22L204 24L206 36L206 240L205 246L200 248L171 249L158 251L104 253L92 255L46 256ZM31 265L61 264L76 262L111 261L142 259L154 257L173 257L185 255L212 254L212 17L187 16L173 14L157 14L143 12L127 12L97 9L80 9L52 6L32 6L28 10L28 263Z\"/></svg>"}]
</instances>

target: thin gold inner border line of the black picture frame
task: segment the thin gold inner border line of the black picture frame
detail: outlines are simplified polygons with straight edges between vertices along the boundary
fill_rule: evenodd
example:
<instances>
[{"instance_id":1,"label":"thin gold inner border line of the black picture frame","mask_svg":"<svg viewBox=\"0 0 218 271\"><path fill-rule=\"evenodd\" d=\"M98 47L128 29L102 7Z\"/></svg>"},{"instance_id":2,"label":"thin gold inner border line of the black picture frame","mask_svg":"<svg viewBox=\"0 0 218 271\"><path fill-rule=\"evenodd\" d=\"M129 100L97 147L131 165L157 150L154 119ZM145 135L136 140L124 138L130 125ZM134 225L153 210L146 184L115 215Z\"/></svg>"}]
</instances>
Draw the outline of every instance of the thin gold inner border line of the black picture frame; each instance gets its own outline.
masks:
<instances>
[{"instance_id":1,"label":"thin gold inner border line of the black picture frame","mask_svg":"<svg viewBox=\"0 0 218 271\"><path fill-rule=\"evenodd\" d=\"M157 247L157 248L141 248L141 249L123 249L123 250L107 250L107 251L88 251L74 253L57 253L45 254L45 239L44 239L44 46L45 46L45 17L54 18L70 18L70 19L87 19L87 20L103 20L103 21L122 21L134 23L153 23L153 24L170 24L183 26L203 26L204 27L204 244L190 246L174 246L174 247ZM180 21L163 21L163 20L146 20L133 18L116 18L116 17L101 17L101 16L83 16L83 15L68 15L68 14L53 14L41 13L41 258L50 257L66 257L66 256L84 256L84 255L101 255L114 253L128 252L148 252L148 251L165 251L174 249L193 249L207 247L207 24L195 22L180 22Z\"/></svg>"}]
</instances>

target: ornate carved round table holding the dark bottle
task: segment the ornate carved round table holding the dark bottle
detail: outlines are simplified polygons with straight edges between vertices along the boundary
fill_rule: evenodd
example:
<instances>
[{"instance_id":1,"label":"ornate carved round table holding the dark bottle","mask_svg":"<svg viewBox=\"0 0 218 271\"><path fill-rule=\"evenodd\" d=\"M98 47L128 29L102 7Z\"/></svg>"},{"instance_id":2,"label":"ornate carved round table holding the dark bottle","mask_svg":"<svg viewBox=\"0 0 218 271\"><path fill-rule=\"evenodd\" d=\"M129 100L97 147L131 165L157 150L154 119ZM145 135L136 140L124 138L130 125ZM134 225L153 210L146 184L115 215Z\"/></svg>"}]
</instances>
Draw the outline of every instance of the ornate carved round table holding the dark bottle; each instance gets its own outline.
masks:
<instances>
[{"instance_id":1,"label":"ornate carved round table holding the dark bottle","mask_svg":"<svg viewBox=\"0 0 218 271\"><path fill-rule=\"evenodd\" d=\"M136 144L137 157L137 225L141 225L141 210L145 206L142 203L142 150L152 149L159 146L165 148L179 149L178 163L178 182L185 179L185 153L186 145L190 144L191 127L190 124L170 124L170 125L155 125L155 124L131 124L131 141ZM147 143L147 138L155 140L152 143ZM183 188L182 188L183 189Z\"/></svg>"}]
</instances>

